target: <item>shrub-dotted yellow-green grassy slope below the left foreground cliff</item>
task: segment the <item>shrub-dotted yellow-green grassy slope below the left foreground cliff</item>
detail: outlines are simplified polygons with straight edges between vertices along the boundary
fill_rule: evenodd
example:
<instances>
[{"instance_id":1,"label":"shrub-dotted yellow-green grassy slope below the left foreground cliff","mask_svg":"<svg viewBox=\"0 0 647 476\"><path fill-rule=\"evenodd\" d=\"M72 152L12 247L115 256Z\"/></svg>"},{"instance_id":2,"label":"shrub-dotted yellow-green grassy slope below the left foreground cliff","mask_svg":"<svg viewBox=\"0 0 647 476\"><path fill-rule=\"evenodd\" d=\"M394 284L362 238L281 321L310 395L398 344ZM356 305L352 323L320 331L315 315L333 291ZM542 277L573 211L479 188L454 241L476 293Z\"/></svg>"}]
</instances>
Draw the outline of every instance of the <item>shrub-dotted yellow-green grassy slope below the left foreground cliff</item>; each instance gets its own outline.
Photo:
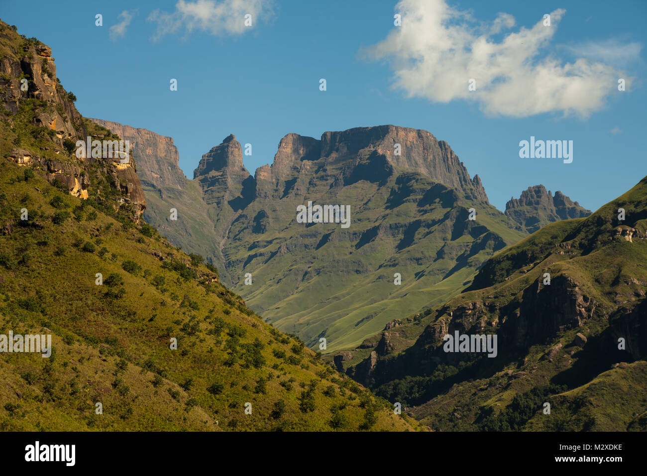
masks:
<instances>
[{"instance_id":1,"label":"shrub-dotted yellow-green grassy slope below the left foreground cliff","mask_svg":"<svg viewBox=\"0 0 647 476\"><path fill-rule=\"evenodd\" d=\"M52 334L54 354L2 354L3 429L314 430L332 429L337 413L342 429L362 425L367 394L260 321L212 271L39 177L12 183L24 172L0 165L1 223L12 224L0 240L0 333ZM76 218L56 225L59 210ZM301 411L313 383L314 411ZM384 405L373 428L411 428Z\"/></svg>"}]
</instances>

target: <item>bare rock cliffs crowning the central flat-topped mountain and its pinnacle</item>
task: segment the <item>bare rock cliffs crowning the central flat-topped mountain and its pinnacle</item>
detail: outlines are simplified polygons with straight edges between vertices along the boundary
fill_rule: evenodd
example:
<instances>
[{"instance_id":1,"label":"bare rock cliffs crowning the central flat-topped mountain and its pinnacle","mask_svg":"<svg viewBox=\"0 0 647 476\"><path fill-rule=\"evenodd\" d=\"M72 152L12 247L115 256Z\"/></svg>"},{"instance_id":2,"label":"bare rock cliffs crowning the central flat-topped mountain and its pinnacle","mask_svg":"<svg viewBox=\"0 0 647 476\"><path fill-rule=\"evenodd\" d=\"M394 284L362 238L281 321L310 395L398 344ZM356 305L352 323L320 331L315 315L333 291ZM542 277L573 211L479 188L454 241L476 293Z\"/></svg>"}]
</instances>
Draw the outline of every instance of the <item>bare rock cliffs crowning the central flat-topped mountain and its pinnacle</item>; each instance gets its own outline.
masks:
<instances>
[{"instance_id":1,"label":"bare rock cliffs crowning the central flat-topped mountain and its pinnacle","mask_svg":"<svg viewBox=\"0 0 647 476\"><path fill-rule=\"evenodd\" d=\"M295 193L305 192L298 185L307 185L306 176L335 166L340 171L333 177L334 187L417 172L463 192L468 199L488 202L480 177L470 178L465 164L447 142L438 141L425 130L391 125L327 131L321 139L296 133L285 135L272 164L257 168L252 177L256 196L283 198L286 187ZM203 155L193 177L204 181L214 172L227 181L234 176L241 181L250 177L243 165L241 144L233 134Z\"/></svg>"}]
</instances>

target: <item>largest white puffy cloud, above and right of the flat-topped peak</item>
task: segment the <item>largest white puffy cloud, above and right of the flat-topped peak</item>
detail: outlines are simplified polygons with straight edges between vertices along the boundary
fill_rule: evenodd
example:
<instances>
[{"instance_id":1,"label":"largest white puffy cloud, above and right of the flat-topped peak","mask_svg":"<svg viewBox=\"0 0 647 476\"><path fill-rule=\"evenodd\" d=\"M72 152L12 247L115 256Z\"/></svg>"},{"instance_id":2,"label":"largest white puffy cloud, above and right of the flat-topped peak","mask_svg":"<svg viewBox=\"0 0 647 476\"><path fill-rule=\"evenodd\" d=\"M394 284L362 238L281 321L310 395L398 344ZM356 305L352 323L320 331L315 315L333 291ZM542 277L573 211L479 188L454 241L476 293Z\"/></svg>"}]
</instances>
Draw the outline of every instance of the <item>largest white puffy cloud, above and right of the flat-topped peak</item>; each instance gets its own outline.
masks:
<instances>
[{"instance_id":1,"label":"largest white puffy cloud, above and right of the flat-topped peak","mask_svg":"<svg viewBox=\"0 0 647 476\"><path fill-rule=\"evenodd\" d=\"M587 117L617 91L617 79L626 77L604 62L564 62L553 56L551 41L563 9L551 12L551 26L539 18L532 28L514 31L509 14L474 25L469 12L444 0L401 0L395 11L402 26L363 52L373 60L387 60L395 74L393 86L409 97L474 100L487 115ZM635 52L635 46L628 52ZM470 79L476 80L476 91L468 90Z\"/></svg>"}]
</instances>

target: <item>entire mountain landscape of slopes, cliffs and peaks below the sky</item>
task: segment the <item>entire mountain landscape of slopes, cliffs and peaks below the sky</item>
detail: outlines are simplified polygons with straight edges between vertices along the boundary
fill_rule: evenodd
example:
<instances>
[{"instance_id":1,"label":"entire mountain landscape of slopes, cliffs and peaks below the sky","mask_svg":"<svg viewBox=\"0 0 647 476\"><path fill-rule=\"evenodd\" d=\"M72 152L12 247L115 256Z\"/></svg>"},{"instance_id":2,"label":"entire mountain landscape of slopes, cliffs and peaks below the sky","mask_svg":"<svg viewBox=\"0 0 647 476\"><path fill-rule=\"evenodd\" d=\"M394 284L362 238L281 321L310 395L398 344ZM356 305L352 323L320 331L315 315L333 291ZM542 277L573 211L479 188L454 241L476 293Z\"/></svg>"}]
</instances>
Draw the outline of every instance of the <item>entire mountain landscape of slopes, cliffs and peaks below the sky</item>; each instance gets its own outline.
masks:
<instances>
[{"instance_id":1,"label":"entire mountain landscape of slopes, cliffs and peaks below the sky","mask_svg":"<svg viewBox=\"0 0 647 476\"><path fill-rule=\"evenodd\" d=\"M3 351L0 429L647 429L647 177L501 212L388 125L289 133L253 176L232 134L188 179L75 99L0 21L0 349L52 337Z\"/></svg>"}]
</instances>

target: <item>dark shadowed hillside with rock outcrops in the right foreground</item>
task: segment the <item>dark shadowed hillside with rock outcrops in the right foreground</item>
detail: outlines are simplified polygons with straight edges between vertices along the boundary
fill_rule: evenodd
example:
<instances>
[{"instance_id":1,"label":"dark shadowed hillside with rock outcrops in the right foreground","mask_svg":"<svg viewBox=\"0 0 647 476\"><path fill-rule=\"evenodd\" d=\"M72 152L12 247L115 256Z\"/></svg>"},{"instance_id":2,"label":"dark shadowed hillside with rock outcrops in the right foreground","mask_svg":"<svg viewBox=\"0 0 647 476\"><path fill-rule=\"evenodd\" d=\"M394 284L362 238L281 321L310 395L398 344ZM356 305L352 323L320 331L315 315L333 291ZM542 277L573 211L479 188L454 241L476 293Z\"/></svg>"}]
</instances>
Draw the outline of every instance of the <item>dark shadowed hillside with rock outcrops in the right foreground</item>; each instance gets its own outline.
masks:
<instances>
[{"instance_id":1,"label":"dark shadowed hillside with rock outcrops in the right foreground","mask_svg":"<svg viewBox=\"0 0 647 476\"><path fill-rule=\"evenodd\" d=\"M646 231L647 177L501 251L463 293L334 361L435 429L644 430ZM496 335L496 357L446 352L455 332Z\"/></svg>"}]
</instances>

